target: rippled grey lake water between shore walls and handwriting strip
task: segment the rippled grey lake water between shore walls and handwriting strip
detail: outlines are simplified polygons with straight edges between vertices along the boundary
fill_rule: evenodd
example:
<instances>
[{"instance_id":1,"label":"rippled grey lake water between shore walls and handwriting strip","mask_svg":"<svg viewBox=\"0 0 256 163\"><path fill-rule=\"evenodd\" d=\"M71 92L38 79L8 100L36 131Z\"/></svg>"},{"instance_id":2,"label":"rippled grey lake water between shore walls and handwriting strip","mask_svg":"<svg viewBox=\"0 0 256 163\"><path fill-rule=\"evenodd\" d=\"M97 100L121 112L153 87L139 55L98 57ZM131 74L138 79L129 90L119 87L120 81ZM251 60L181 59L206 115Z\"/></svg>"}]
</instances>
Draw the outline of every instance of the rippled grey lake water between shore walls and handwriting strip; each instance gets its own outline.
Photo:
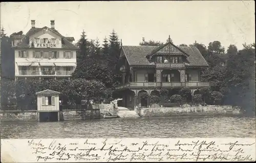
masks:
<instances>
[{"instance_id":1,"label":"rippled grey lake water between shore walls and handwriting strip","mask_svg":"<svg viewBox=\"0 0 256 163\"><path fill-rule=\"evenodd\" d=\"M255 137L255 117L167 117L1 122L1 138Z\"/></svg>"}]
</instances>

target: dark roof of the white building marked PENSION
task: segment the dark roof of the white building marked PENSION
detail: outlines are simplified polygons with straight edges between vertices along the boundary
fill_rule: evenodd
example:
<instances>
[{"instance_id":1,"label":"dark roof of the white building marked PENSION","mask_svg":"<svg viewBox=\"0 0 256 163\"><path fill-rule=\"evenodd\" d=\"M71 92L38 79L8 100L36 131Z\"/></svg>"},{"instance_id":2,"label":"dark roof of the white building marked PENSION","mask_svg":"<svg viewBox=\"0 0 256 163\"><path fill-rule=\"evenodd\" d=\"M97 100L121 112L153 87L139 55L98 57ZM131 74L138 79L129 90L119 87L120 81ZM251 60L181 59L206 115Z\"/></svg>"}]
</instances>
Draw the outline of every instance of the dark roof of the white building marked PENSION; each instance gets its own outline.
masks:
<instances>
[{"instance_id":1,"label":"dark roof of the white building marked PENSION","mask_svg":"<svg viewBox=\"0 0 256 163\"><path fill-rule=\"evenodd\" d=\"M17 48L29 48L29 37L42 29L48 28L47 26L42 28L31 28L26 35L22 38L22 41L19 42L15 47ZM78 50L77 46L72 44L70 41L67 40L64 36L62 36L56 29L48 28L50 31L55 32L56 34L61 36L61 43L63 49L73 49Z\"/></svg>"}]
</instances>

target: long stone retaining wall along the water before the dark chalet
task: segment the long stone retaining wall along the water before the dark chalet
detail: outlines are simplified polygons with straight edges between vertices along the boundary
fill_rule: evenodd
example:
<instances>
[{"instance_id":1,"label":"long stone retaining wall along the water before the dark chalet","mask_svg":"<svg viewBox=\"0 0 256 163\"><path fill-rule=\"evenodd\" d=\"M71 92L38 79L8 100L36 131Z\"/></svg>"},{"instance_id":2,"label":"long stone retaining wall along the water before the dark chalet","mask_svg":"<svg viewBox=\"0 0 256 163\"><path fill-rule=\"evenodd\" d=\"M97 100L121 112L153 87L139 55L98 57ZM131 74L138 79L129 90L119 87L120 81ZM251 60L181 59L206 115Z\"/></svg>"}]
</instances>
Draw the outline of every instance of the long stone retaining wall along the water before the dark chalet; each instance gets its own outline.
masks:
<instances>
[{"instance_id":1,"label":"long stone retaining wall along the water before the dark chalet","mask_svg":"<svg viewBox=\"0 0 256 163\"><path fill-rule=\"evenodd\" d=\"M185 115L232 115L240 114L232 106L194 106L194 107L158 107L137 108L140 117L172 117Z\"/></svg>"}]
</instances>

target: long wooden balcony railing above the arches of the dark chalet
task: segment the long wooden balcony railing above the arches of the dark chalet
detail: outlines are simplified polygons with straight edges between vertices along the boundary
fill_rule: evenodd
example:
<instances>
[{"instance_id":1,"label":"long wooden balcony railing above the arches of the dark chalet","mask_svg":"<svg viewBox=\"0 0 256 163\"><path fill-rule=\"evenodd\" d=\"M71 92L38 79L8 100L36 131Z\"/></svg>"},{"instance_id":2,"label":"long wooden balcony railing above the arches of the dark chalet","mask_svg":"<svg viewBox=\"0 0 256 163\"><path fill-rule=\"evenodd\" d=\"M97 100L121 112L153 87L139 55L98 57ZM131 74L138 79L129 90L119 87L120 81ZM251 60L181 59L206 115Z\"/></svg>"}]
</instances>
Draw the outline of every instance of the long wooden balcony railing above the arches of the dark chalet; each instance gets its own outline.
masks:
<instances>
[{"instance_id":1,"label":"long wooden balcony railing above the arches of the dark chalet","mask_svg":"<svg viewBox=\"0 0 256 163\"><path fill-rule=\"evenodd\" d=\"M123 88L207 88L210 87L208 82L129 82L116 86L116 90Z\"/></svg>"}]
</instances>

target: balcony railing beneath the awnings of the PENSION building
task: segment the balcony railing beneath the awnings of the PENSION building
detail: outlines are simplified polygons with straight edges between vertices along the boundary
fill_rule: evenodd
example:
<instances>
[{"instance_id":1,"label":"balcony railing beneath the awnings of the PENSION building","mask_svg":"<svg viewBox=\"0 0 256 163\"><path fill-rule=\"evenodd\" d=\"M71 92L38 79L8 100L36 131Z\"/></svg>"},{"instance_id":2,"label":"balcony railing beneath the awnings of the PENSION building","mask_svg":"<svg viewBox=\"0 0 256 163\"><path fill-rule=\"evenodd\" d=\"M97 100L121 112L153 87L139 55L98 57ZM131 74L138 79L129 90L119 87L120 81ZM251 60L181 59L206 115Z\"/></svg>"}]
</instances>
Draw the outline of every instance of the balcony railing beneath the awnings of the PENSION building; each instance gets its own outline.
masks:
<instances>
[{"instance_id":1,"label":"balcony railing beneath the awnings of the PENSION building","mask_svg":"<svg viewBox=\"0 0 256 163\"><path fill-rule=\"evenodd\" d=\"M19 71L18 76L70 76L73 71Z\"/></svg>"}]
</instances>

